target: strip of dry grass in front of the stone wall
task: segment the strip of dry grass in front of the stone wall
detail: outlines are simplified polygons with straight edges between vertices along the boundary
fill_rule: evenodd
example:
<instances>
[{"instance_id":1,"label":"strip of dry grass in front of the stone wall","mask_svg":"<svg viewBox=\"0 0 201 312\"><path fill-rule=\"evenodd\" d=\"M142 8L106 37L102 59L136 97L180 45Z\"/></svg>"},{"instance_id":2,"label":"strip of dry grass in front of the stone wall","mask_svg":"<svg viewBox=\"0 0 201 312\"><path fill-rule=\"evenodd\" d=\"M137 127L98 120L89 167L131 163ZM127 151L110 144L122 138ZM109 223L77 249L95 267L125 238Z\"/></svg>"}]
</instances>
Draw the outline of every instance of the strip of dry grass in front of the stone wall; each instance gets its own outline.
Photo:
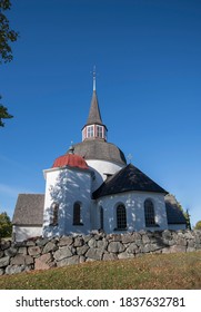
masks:
<instances>
[{"instance_id":1,"label":"strip of dry grass in front of the stone wall","mask_svg":"<svg viewBox=\"0 0 201 312\"><path fill-rule=\"evenodd\" d=\"M201 289L201 252L149 254L0 276L4 290Z\"/></svg>"}]
</instances>

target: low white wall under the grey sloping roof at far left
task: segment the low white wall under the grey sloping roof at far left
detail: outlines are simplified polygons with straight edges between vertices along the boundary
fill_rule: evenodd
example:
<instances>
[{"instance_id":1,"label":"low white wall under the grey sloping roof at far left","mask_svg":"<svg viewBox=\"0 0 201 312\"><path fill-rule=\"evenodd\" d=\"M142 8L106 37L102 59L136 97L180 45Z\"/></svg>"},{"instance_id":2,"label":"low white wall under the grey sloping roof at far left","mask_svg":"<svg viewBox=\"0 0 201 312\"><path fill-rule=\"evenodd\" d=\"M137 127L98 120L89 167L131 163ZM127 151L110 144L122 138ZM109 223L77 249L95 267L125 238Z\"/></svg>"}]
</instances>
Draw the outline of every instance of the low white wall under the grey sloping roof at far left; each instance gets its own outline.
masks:
<instances>
[{"instance_id":1,"label":"low white wall under the grey sloping roof at far left","mask_svg":"<svg viewBox=\"0 0 201 312\"><path fill-rule=\"evenodd\" d=\"M16 242L22 242L30 237L42 235L42 226L20 226L13 225L12 235Z\"/></svg>"}]
</instances>

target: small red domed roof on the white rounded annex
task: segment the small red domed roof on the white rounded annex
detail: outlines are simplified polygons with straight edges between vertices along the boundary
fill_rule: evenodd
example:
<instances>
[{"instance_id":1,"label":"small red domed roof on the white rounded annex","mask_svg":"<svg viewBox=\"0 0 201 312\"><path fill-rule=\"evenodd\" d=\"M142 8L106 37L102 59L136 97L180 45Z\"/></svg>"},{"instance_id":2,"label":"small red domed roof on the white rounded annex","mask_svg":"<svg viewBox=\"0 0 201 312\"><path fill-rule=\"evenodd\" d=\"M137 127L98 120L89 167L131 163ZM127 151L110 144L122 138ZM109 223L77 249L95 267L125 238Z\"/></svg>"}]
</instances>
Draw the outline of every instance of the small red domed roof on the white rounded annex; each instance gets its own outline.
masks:
<instances>
[{"instance_id":1,"label":"small red domed roof on the white rounded annex","mask_svg":"<svg viewBox=\"0 0 201 312\"><path fill-rule=\"evenodd\" d=\"M52 168L66 167L66 166L77 167L77 168L81 168L81 169L89 168L86 160L81 156L76 155L76 154L66 154L66 155L58 157L54 160Z\"/></svg>"}]
</instances>

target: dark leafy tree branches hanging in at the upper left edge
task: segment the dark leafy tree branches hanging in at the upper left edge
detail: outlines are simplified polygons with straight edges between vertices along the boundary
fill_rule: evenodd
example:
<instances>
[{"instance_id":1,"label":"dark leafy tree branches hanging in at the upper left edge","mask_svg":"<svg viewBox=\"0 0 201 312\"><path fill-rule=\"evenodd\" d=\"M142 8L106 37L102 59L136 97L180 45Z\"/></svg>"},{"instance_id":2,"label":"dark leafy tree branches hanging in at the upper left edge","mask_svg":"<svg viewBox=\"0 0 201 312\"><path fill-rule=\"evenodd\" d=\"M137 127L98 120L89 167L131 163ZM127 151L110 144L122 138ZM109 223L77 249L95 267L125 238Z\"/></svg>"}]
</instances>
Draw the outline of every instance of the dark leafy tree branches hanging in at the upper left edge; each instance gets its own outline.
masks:
<instances>
[{"instance_id":1,"label":"dark leafy tree branches hanging in at the upper left edge","mask_svg":"<svg viewBox=\"0 0 201 312\"><path fill-rule=\"evenodd\" d=\"M10 8L10 0L0 0L0 65L13 59L10 43L14 42L19 37L17 31L10 29L10 23L6 16ZM0 104L0 127L4 126L2 119L6 118L12 118L12 116L8 113L7 107Z\"/></svg>"}]
</instances>

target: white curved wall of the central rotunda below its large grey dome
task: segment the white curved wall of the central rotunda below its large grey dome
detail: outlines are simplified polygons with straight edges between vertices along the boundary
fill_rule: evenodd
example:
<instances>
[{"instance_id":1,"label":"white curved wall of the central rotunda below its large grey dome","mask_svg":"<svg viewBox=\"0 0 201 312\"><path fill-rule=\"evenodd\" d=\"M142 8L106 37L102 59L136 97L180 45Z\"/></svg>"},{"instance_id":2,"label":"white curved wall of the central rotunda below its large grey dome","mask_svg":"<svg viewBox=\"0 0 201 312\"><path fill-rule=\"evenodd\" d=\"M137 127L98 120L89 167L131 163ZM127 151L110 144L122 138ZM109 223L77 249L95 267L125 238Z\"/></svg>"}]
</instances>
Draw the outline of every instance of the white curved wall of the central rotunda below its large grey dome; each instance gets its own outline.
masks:
<instances>
[{"instance_id":1,"label":"white curved wall of the central rotunda below its large grey dome","mask_svg":"<svg viewBox=\"0 0 201 312\"><path fill-rule=\"evenodd\" d=\"M107 179L105 174L115 174L123 166L105 160L87 160L88 166L94 170L96 179L92 184L92 192L101 186L101 184Z\"/></svg>"}]
</instances>

